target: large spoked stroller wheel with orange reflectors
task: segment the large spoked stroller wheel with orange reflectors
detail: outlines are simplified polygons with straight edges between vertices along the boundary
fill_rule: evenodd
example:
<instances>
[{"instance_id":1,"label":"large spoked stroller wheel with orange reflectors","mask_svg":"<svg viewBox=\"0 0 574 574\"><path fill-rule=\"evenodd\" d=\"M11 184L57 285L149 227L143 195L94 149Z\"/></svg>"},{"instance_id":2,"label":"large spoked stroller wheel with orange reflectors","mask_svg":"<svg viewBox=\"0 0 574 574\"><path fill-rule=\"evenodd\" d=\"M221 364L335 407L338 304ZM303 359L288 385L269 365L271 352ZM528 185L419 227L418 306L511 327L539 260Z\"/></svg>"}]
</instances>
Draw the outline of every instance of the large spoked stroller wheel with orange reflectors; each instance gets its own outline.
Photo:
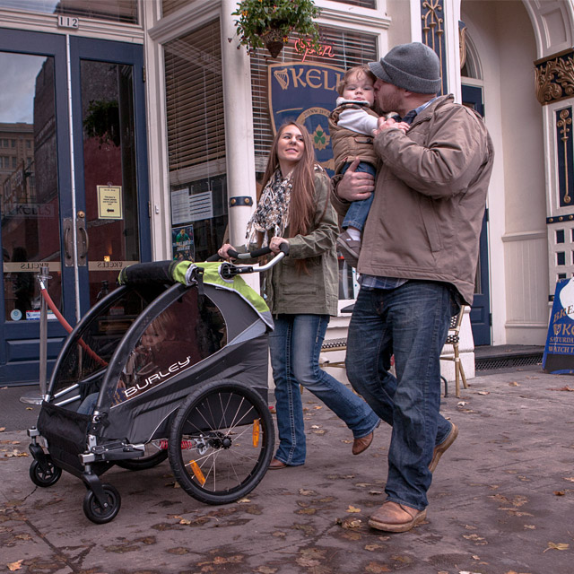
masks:
<instances>
[{"instance_id":1,"label":"large spoked stroller wheel with orange reflectors","mask_svg":"<svg viewBox=\"0 0 574 574\"><path fill-rule=\"evenodd\" d=\"M171 423L168 452L179 485L208 504L252 491L271 461L274 426L265 400L243 383L197 387Z\"/></svg>"}]
</instances>

